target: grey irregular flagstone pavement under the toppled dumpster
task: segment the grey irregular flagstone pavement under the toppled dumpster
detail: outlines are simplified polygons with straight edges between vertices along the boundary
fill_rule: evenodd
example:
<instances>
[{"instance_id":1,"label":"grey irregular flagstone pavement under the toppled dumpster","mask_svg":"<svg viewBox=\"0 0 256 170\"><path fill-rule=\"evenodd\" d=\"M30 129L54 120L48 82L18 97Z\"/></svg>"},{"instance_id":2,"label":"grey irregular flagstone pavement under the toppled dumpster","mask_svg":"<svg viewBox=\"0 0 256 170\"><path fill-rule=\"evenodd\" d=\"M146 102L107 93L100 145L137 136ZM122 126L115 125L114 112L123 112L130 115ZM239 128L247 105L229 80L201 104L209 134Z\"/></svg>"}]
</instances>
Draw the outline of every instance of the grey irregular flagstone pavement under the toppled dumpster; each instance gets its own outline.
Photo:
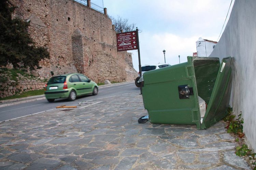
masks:
<instances>
[{"instance_id":1,"label":"grey irregular flagstone pavement under the toppled dumpster","mask_svg":"<svg viewBox=\"0 0 256 170\"><path fill-rule=\"evenodd\" d=\"M251 169L223 121L207 130L138 119L138 93L0 123L0 169Z\"/></svg>"}]
</instances>

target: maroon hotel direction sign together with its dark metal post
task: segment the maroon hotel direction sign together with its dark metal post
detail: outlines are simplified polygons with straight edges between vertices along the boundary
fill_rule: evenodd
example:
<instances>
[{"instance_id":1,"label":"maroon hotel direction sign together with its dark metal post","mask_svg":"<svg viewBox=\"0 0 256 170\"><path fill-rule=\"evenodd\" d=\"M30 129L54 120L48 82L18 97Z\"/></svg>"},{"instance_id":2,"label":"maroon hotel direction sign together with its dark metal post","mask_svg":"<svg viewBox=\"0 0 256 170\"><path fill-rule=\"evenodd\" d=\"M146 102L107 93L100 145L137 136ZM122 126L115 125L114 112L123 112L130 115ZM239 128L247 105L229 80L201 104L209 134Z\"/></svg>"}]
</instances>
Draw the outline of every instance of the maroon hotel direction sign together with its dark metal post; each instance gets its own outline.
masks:
<instances>
[{"instance_id":1,"label":"maroon hotel direction sign together with its dark metal post","mask_svg":"<svg viewBox=\"0 0 256 170\"><path fill-rule=\"evenodd\" d=\"M139 30L116 34L117 51L137 50L139 56L139 72L141 77ZM142 89L140 88L142 94Z\"/></svg>"}]
</instances>

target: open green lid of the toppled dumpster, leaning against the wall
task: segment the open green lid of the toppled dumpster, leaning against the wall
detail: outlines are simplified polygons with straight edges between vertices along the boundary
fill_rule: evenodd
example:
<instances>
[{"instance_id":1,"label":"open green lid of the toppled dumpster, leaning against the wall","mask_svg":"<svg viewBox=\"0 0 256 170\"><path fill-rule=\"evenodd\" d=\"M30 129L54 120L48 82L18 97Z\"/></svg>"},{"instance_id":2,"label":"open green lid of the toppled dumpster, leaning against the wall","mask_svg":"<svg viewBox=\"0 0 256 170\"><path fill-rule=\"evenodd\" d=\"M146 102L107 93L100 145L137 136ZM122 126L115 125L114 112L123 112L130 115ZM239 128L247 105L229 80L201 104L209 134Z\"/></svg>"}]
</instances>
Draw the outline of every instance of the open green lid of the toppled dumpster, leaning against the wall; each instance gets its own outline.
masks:
<instances>
[{"instance_id":1,"label":"open green lid of the toppled dumpster, leaning against the wall","mask_svg":"<svg viewBox=\"0 0 256 170\"><path fill-rule=\"evenodd\" d=\"M231 57L222 60L201 129L209 128L227 115L232 85L231 61Z\"/></svg>"}]
</instances>

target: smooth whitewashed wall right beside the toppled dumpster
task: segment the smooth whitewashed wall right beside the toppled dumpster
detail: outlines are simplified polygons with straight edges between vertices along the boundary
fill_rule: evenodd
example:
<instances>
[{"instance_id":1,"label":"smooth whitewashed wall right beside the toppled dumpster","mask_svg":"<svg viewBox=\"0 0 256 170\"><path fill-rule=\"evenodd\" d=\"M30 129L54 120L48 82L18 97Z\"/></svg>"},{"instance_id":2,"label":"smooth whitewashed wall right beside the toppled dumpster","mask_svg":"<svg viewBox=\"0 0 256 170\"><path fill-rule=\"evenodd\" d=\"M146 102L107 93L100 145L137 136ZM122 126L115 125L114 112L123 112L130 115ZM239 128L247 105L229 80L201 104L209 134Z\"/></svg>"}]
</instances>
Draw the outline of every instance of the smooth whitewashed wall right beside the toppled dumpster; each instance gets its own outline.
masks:
<instances>
[{"instance_id":1,"label":"smooth whitewashed wall right beside the toppled dumpster","mask_svg":"<svg viewBox=\"0 0 256 170\"><path fill-rule=\"evenodd\" d=\"M243 130L256 151L256 0L236 0L221 39L210 57L233 57L230 105L242 111Z\"/></svg>"}]
</instances>

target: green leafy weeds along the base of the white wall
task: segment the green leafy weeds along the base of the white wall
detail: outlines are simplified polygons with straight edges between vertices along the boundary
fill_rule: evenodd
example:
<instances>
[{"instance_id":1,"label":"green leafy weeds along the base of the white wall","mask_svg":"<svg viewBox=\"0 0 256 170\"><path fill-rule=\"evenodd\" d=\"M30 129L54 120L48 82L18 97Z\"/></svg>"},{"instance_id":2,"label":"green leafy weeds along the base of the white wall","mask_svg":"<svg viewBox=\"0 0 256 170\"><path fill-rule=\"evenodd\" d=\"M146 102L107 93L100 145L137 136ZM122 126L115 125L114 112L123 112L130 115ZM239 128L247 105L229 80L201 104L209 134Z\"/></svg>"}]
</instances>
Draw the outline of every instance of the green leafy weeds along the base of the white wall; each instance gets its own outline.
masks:
<instances>
[{"instance_id":1,"label":"green leafy weeds along the base of the white wall","mask_svg":"<svg viewBox=\"0 0 256 170\"><path fill-rule=\"evenodd\" d=\"M233 133L235 135L238 135L239 138L243 138L244 137L244 133L243 133L243 118L241 118L242 116L242 112L240 113L240 115L238 115L238 119L236 118L236 115L233 115L232 112L232 108L229 107L227 109L228 115L227 117L224 118L225 122L228 122L228 125L225 127L227 129L227 133ZM236 141L239 142L239 138L236 138ZM251 149L248 149L248 146L245 144L242 144L242 146L238 146L236 148L236 155L237 156L246 156L250 159L250 162L252 164L252 166L254 166L253 170L256 170L256 160L255 160L255 155L256 153L252 153Z\"/></svg>"}]
</instances>

